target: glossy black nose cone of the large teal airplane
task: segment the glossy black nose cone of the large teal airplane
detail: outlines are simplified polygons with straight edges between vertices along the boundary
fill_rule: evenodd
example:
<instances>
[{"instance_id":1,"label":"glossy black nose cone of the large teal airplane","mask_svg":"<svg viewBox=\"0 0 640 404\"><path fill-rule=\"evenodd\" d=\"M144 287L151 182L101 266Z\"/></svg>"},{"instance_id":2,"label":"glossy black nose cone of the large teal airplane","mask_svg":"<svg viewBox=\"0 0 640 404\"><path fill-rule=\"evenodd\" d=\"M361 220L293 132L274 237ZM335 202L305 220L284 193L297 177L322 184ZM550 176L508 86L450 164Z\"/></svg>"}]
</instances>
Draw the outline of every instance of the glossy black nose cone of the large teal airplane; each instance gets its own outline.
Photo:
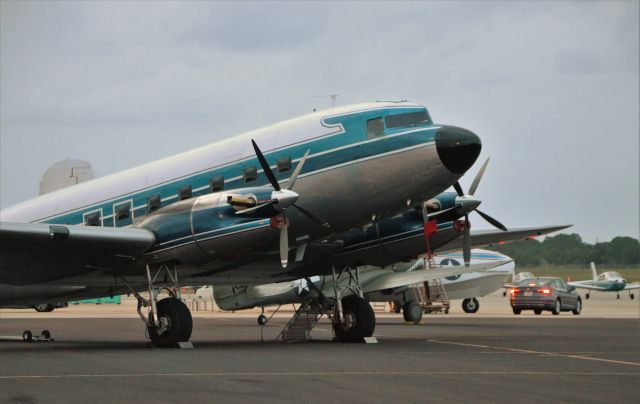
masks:
<instances>
[{"instance_id":1,"label":"glossy black nose cone of the large teal airplane","mask_svg":"<svg viewBox=\"0 0 640 404\"><path fill-rule=\"evenodd\" d=\"M443 126L436 132L438 156L454 174L464 174L475 163L481 149L480 138L469 130Z\"/></svg>"}]
</instances>

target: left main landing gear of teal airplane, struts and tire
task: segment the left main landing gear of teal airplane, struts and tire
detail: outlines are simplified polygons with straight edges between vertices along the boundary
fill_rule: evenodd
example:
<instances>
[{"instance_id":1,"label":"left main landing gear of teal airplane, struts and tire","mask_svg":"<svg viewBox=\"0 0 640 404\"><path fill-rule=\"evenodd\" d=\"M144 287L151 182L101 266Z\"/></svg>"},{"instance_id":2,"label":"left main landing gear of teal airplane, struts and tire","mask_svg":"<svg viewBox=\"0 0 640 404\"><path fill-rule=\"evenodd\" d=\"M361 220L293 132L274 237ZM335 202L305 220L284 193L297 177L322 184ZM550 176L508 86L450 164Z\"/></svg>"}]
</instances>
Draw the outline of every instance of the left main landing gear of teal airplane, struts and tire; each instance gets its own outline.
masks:
<instances>
[{"instance_id":1,"label":"left main landing gear of teal airplane, struts and tire","mask_svg":"<svg viewBox=\"0 0 640 404\"><path fill-rule=\"evenodd\" d=\"M170 287L158 286L158 278L164 274L162 284L169 284ZM138 299L138 315L146 324L147 334L153 346L170 348L181 342L189 341L193 330L193 319L187 306L180 300L180 287L178 285L178 271L175 265L161 264L155 272L147 265L147 288L149 299L143 298L129 282L120 277L122 282ZM161 290L167 290L170 297L158 300ZM147 308L147 315L142 312L142 308Z\"/></svg>"}]
</instances>

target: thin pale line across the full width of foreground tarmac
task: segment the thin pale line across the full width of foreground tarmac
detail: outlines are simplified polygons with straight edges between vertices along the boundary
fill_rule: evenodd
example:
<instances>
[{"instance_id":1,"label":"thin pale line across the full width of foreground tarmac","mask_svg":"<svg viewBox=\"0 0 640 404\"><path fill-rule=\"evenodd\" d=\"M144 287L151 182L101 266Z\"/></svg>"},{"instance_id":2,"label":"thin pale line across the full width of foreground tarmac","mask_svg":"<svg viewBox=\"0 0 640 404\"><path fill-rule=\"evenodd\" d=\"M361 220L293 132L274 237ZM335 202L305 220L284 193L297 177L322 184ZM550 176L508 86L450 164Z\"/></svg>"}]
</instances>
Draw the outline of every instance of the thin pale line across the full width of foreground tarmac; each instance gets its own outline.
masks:
<instances>
[{"instance_id":1,"label":"thin pale line across the full width of foreground tarmac","mask_svg":"<svg viewBox=\"0 0 640 404\"><path fill-rule=\"evenodd\" d=\"M405 375L569 375L569 376L640 376L640 372L536 372L536 371L352 371L352 372L207 372L207 373L129 373L129 374L68 374L68 375L10 375L0 380L79 379L129 377L280 377L280 376L405 376Z\"/></svg>"}]
</instances>

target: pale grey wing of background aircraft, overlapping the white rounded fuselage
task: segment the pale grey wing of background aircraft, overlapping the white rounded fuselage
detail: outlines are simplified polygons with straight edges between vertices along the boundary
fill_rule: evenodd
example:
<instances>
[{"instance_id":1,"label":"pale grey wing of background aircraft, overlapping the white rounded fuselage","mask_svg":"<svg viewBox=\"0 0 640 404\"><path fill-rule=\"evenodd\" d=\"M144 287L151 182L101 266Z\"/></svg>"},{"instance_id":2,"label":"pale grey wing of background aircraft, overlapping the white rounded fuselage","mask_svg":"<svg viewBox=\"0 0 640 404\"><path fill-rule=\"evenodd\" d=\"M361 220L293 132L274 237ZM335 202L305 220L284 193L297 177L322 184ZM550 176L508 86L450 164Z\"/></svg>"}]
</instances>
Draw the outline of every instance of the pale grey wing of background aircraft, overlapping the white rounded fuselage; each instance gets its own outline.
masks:
<instances>
[{"instance_id":1,"label":"pale grey wing of background aircraft, overlapping the white rounded fuselage","mask_svg":"<svg viewBox=\"0 0 640 404\"><path fill-rule=\"evenodd\" d=\"M369 293L383 289L411 285L413 283L430 281L433 279L440 279L447 276L486 271L488 269L504 265L508 262L511 262L511 260L492 261L490 263L471 265L469 267L459 265L436 269L421 269L419 271L410 272L392 272L374 278L371 282L360 286L362 288L362 292Z\"/></svg>"}]
</instances>

